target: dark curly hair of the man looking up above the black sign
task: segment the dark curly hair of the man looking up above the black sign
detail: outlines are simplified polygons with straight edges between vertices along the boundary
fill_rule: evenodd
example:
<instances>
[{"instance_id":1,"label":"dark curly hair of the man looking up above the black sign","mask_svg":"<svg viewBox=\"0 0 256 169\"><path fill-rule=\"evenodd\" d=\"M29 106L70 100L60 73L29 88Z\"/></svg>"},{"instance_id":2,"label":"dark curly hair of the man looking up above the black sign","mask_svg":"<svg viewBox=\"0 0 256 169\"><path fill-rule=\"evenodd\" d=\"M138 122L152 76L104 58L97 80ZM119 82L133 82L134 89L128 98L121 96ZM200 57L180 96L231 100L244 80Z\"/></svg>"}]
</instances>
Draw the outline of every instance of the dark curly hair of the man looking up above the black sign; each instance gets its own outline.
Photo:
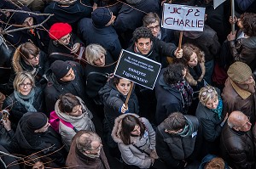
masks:
<instances>
[{"instance_id":1,"label":"dark curly hair of the man looking up above the black sign","mask_svg":"<svg viewBox=\"0 0 256 169\"><path fill-rule=\"evenodd\" d=\"M147 27L141 26L141 27L138 27L132 33L133 42L137 42L137 40L140 39L140 38L150 38L150 41L152 41L153 40L153 35Z\"/></svg>"}]
</instances>

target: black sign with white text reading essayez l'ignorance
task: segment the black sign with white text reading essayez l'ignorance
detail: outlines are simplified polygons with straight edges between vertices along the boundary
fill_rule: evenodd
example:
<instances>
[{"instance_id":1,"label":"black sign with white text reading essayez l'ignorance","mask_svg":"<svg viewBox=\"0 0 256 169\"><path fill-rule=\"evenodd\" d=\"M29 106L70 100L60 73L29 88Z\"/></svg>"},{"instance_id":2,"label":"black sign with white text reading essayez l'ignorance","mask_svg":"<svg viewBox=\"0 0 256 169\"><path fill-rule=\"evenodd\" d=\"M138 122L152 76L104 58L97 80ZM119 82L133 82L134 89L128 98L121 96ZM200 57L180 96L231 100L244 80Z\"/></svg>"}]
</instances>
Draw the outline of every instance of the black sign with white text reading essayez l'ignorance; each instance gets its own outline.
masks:
<instances>
[{"instance_id":1,"label":"black sign with white text reading essayez l'ignorance","mask_svg":"<svg viewBox=\"0 0 256 169\"><path fill-rule=\"evenodd\" d=\"M114 75L153 89L160 68L161 64L152 59L122 50Z\"/></svg>"}]
</instances>

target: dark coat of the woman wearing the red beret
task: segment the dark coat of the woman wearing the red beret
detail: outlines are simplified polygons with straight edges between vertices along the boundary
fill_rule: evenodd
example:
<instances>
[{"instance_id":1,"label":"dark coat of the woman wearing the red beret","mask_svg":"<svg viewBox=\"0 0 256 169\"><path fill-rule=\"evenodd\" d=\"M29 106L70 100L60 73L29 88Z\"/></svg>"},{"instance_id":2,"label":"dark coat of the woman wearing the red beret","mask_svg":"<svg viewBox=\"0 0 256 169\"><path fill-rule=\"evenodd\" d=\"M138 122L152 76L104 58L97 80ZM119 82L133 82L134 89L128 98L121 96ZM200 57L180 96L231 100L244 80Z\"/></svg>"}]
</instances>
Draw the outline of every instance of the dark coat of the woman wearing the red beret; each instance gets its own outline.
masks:
<instances>
[{"instance_id":1,"label":"dark coat of the woman wearing the red beret","mask_svg":"<svg viewBox=\"0 0 256 169\"><path fill-rule=\"evenodd\" d=\"M71 33L70 42L68 45L64 46L54 40L50 40L48 54L49 54L49 63L52 64L55 60L75 60L76 56L71 54L69 48L73 48L75 43L80 43L83 45L83 42L75 34ZM57 54L61 53L61 54ZM68 55L65 55L68 54Z\"/></svg>"}]
</instances>

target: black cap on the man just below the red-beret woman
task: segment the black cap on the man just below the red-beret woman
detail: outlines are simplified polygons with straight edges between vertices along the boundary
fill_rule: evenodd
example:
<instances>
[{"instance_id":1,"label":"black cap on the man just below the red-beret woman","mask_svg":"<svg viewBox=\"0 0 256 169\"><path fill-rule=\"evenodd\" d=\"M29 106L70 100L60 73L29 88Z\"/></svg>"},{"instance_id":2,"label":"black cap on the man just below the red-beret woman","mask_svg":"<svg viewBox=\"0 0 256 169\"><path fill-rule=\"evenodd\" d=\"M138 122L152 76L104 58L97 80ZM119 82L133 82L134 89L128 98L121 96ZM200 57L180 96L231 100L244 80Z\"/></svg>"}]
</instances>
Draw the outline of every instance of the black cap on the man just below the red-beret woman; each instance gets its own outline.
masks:
<instances>
[{"instance_id":1,"label":"black cap on the man just below the red-beret woman","mask_svg":"<svg viewBox=\"0 0 256 169\"><path fill-rule=\"evenodd\" d=\"M71 69L71 65L62 60L55 60L55 62L50 65L50 69L55 74L57 79L61 79L67 75L67 72Z\"/></svg>"}]
</instances>

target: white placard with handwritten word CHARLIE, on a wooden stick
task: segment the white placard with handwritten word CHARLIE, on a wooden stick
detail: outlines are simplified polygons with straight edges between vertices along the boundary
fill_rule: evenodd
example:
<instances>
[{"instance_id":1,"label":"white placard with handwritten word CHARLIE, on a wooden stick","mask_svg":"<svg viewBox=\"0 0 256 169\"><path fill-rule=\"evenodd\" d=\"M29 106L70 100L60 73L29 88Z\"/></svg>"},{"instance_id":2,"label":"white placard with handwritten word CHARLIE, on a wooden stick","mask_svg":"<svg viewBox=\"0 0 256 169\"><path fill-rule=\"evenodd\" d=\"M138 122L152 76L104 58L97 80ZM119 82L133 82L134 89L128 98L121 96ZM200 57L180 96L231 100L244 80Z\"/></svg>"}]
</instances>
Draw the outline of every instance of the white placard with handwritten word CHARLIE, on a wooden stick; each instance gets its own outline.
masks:
<instances>
[{"instance_id":1,"label":"white placard with handwritten word CHARLIE, on a wooden stick","mask_svg":"<svg viewBox=\"0 0 256 169\"><path fill-rule=\"evenodd\" d=\"M203 31L206 8L164 3L162 27L179 31Z\"/></svg>"}]
</instances>

